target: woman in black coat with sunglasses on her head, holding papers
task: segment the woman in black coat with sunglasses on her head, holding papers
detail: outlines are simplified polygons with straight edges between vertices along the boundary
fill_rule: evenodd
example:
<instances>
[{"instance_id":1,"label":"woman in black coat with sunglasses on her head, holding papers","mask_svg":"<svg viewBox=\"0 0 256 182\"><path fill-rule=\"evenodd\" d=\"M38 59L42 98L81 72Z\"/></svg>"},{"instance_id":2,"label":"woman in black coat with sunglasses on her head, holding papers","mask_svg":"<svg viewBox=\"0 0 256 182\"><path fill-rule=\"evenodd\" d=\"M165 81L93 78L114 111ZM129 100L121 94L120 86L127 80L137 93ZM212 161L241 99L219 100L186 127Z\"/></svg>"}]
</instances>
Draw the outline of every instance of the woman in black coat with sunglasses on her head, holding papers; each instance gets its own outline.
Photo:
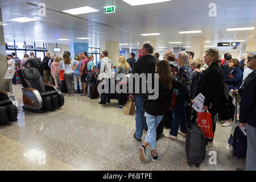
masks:
<instances>
[{"instance_id":1,"label":"woman in black coat with sunglasses on her head, holding papers","mask_svg":"<svg viewBox=\"0 0 256 182\"><path fill-rule=\"evenodd\" d=\"M223 76L220 65L218 65L218 50L208 49L205 52L204 61L209 66L201 76L197 94L204 95L203 110L208 110L212 114L213 135L216 129L215 115L222 109L224 105L224 87ZM213 139L207 139L209 147L213 147Z\"/></svg>"}]
</instances>

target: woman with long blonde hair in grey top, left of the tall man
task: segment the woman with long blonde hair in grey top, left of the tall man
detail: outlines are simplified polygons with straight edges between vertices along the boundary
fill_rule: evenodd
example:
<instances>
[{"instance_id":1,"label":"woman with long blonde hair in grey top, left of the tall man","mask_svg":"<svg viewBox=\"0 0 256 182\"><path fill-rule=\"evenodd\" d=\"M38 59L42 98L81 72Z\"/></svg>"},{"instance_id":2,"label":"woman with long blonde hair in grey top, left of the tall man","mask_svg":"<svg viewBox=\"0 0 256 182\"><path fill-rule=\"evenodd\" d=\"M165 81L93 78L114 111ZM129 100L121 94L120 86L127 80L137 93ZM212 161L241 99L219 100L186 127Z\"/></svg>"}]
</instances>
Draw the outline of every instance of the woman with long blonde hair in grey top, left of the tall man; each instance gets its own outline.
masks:
<instances>
[{"instance_id":1,"label":"woman with long blonde hair in grey top, left of the tall man","mask_svg":"<svg viewBox=\"0 0 256 182\"><path fill-rule=\"evenodd\" d=\"M124 84L127 84L127 80L121 80L121 76L118 76L119 73L123 73L125 75L128 75L131 72L131 67L129 63L127 63L127 60L125 57L120 56L119 57L119 64L117 65L117 71L115 72L115 75L117 76L117 82L120 84L120 88L122 89L122 86ZM122 106L126 104L128 101L128 97L125 93L117 94L118 96L118 106L117 108L122 109Z\"/></svg>"}]
</instances>

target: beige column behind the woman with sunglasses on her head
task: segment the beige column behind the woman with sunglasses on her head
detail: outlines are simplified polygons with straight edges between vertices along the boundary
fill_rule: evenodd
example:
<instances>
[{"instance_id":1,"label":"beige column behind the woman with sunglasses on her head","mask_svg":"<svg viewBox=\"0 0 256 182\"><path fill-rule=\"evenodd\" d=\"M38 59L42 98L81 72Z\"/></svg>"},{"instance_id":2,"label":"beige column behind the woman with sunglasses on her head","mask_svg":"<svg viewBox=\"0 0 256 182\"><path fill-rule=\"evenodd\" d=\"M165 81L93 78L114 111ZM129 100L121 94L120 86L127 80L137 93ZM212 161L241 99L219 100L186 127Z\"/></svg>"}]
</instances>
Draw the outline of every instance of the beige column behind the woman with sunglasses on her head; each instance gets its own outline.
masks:
<instances>
[{"instance_id":1,"label":"beige column behind the woman with sunglasses on her head","mask_svg":"<svg viewBox=\"0 0 256 182\"><path fill-rule=\"evenodd\" d=\"M191 51L195 53L194 59L204 56L204 37L193 37L191 39Z\"/></svg>"}]
</instances>

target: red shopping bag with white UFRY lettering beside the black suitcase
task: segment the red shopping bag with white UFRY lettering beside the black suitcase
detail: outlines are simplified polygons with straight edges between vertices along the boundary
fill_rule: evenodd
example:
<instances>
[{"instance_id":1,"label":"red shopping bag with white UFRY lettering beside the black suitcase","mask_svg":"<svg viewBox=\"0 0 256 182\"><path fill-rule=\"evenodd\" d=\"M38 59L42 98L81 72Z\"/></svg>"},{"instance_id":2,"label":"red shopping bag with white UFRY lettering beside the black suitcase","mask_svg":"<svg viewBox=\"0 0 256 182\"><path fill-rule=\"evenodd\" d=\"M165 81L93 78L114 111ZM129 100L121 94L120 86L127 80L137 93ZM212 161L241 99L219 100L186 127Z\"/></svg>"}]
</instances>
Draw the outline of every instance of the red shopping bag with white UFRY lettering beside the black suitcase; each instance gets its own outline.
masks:
<instances>
[{"instance_id":1,"label":"red shopping bag with white UFRY lettering beside the black suitcase","mask_svg":"<svg viewBox=\"0 0 256 182\"><path fill-rule=\"evenodd\" d=\"M212 114L208 112L197 113L197 126L203 131L205 138L213 139Z\"/></svg>"}]
</instances>

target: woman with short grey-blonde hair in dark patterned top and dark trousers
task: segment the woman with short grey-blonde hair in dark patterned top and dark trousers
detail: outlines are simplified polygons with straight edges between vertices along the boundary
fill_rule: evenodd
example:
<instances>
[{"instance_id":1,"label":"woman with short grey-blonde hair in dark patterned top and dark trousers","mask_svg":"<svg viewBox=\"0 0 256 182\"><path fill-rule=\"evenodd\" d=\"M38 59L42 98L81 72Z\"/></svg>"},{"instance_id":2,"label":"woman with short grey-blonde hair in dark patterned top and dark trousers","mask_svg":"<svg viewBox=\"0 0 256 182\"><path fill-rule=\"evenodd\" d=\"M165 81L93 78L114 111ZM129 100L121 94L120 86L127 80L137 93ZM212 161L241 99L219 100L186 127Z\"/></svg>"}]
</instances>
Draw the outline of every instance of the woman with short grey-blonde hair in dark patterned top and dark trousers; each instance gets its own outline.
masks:
<instances>
[{"instance_id":1,"label":"woman with short grey-blonde hair in dark patterned top and dark trousers","mask_svg":"<svg viewBox=\"0 0 256 182\"><path fill-rule=\"evenodd\" d=\"M191 86L191 81L192 81L192 74L190 69L189 56L187 52L181 51L178 53L177 64L179 65L180 68L179 68L179 71L177 72L177 75L174 78L189 90ZM176 140L178 133L183 137L186 136L186 129L187 129L187 125L186 125L187 113L185 109L186 105L187 105L187 102L185 101L185 98L179 92L177 95L177 100L176 100L175 107L172 114L173 121L172 121L171 131L170 133L164 134L164 137ZM180 131L178 132L179 126L180 126Z\"/></svg>"}]
</instances>

